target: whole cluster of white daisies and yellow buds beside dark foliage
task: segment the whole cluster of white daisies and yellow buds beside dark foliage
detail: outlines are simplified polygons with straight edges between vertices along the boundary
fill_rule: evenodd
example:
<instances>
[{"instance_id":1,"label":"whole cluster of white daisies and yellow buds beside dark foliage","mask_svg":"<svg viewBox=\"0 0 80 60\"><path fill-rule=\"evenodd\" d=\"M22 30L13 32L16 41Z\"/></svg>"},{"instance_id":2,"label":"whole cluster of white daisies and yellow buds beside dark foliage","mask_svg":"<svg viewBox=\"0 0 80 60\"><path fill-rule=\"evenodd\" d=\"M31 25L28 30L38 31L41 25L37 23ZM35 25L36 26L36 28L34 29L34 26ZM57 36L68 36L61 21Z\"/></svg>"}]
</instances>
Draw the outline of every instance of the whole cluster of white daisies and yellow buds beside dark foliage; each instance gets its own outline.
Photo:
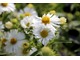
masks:
<instances>
[{"instance_id":1,"label":"whole cluster of white daisies and yellow buds beside dark foliage","mask_svg":"<svg viewBox=\"0 0 80 60\"><path fill-rule=\"evenodd\" d=\"M66 18L58 17L55 11L39 17L32 4L17 11L13 3L0 3L0 54L45 55L48 49L51 54L47 55L54 55L44 46L56 38L56 32L65 23Z\"/></svg>"}]
</instances>

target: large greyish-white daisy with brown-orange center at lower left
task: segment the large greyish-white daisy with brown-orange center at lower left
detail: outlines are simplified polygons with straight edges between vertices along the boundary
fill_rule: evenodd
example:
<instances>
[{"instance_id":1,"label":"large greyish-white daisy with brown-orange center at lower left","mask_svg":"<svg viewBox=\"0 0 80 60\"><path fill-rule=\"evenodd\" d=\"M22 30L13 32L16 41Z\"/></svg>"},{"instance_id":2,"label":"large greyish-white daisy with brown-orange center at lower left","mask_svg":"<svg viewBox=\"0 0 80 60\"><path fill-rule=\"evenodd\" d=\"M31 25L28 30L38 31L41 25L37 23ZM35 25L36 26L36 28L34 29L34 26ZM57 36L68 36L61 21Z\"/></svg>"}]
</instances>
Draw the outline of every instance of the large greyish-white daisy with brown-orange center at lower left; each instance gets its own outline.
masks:
<instances>
[{"instance_id":1,"label":"large greyish-white daisy with brown-orange center at lower left","mask_svg":"<svg viewBox=\"0 0 80 60\"><path fill-rule=\"evenodd\" d=\"M22 32L18 32L18 30L10 30L10 32L7 32L6 34L8 37L6 38L7 41L5 42L6 46L4 49L7 53L16 55L21 44L25 42L25 35Z\"/></svg>"}]
</instances>

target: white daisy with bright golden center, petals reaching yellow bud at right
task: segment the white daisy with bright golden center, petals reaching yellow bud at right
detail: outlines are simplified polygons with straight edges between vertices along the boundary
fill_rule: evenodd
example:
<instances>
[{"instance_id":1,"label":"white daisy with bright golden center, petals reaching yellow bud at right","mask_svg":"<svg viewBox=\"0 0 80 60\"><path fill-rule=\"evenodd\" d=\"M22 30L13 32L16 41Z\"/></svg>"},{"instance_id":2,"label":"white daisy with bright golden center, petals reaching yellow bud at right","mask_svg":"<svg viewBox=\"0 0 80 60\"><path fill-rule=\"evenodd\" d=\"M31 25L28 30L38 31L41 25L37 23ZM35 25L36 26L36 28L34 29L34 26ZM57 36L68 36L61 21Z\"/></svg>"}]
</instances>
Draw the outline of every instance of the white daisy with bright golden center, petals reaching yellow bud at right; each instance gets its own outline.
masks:
<instances>
[{"instance_id":1,"label":"white daisy with bright golden center, petals reaching yellow bud at right","mask_svg":"<svg viewBox=\"0 0 80 60\"><path fill-rule=\"evenodd\" d=\"M39 23L44 24L44 25L51 24L54 27L59 27L59 24L63 24L64 22L66 22L66 19L60 19L58 18L58 16L50 14L50 13L48 13L47 15L44 14L42 18L36 17L36 19L38 20L37 22L38 24Z\"/></svg>"}]
</instances>

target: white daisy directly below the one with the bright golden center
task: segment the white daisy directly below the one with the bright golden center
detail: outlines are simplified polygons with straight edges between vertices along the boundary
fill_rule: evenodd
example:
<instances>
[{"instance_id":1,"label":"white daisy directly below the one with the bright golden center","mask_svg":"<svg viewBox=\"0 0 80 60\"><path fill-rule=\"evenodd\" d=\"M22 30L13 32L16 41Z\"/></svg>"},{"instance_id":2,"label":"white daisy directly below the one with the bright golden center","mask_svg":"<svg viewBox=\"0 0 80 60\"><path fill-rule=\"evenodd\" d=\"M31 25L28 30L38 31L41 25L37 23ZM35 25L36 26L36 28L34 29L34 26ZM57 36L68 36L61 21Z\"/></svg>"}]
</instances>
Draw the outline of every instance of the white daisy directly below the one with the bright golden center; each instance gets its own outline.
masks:
<instances>
[{"instance_id":1,"label":"white daisy directly below the one with the bright golden center","mask_svg":"<svg viewBox=\"0 0 80 60\"><path fill-rule=\"evenodd\" d=\"M56 29L52 25L38 25L34 28L33 34L35 35L35 38L39 38L39 42L41 42L43 45L47 45L49 40L54 38Z\"/></svg>"}]
</instances>

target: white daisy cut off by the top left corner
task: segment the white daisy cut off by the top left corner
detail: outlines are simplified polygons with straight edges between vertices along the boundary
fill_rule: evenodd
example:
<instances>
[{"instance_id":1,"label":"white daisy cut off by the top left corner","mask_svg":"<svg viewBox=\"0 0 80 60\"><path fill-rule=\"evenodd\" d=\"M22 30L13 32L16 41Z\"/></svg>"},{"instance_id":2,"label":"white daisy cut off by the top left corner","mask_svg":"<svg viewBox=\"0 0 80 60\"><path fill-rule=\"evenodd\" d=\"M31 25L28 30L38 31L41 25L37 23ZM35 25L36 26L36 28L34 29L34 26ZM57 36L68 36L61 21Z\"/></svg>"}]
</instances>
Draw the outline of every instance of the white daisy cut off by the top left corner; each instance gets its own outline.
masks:
<instances>
[{"instance_id":1,"label":"white daisy cut off by the top left corner","mask_svg":"<svg viewBox=\"0 0 80 60\"><path fill-rule=\"evenodd\" d=\"M15 5L13 3L0 3L0 14L4 11L13 12L15 10Z\"/></svg>"}]
</instances>

